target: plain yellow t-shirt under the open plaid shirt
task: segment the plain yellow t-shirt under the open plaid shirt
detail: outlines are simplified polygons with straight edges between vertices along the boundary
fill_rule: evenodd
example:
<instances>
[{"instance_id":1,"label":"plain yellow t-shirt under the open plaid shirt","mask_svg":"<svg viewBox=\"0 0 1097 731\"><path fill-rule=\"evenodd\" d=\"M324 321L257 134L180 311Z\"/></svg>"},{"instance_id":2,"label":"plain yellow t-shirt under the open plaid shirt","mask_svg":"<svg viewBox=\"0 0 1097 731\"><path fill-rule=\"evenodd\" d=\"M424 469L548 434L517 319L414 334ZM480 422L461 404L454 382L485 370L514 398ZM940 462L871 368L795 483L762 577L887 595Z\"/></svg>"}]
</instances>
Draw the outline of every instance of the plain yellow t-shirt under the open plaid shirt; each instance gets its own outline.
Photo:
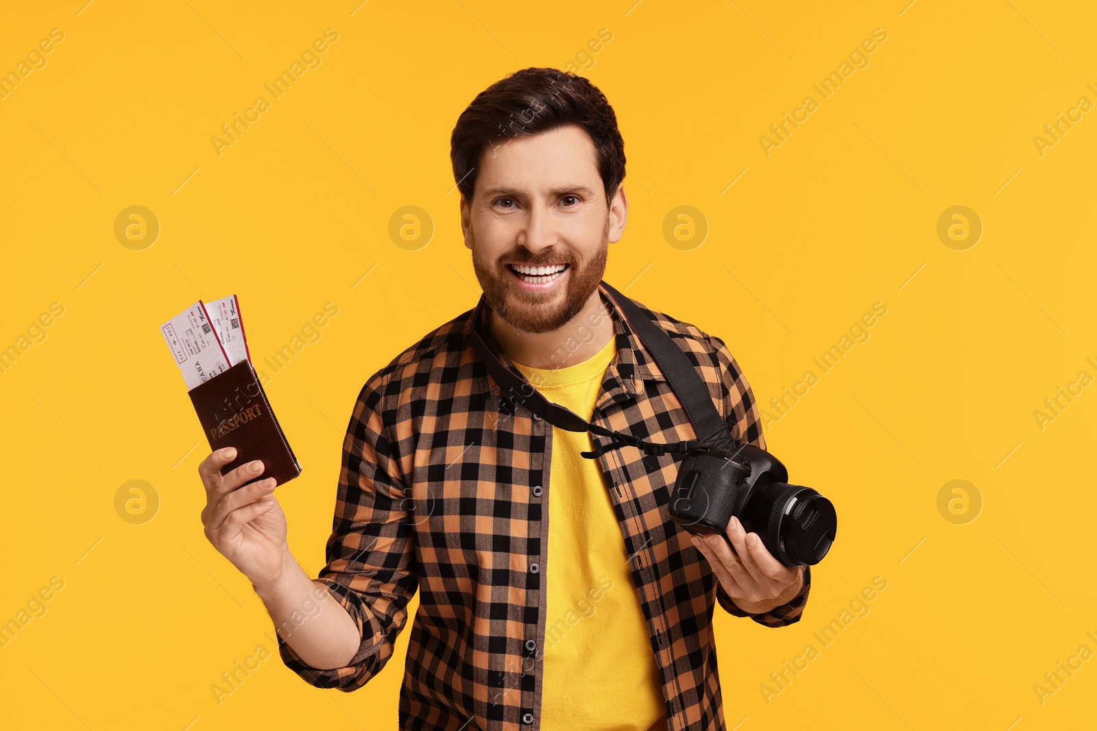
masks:
<instances>
[{"instance_id":1,"label":"plain yellow t-shirt under the open plaid shirt","mask_svg":"<svg viewBox=\"0 0 1097 731\"><path fill-rule=\"evenodd\" d=\"M587 421L617 339L564 368L516 363L548 401ZM589 432L553 427L548 496L547 623L541 728L599 731L665 728L663 681L632 580L621 527Z\"/></svg>"}]
</instances>

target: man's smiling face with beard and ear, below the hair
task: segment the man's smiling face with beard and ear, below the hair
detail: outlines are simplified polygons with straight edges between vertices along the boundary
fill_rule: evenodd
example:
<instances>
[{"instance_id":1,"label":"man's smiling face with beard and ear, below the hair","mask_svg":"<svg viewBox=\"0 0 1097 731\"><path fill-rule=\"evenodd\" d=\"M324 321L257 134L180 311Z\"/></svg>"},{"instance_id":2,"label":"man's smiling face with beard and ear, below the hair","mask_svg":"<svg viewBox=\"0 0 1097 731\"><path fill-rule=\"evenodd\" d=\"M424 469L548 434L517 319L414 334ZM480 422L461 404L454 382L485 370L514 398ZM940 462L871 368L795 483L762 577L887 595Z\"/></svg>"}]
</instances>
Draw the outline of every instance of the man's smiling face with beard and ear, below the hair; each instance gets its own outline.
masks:
<instances>
[{"instance_id":1,"label":"man's smiling face with beard and ear, below the hair","mask_svg":"<svg viewBox=\"0 0 1097 731\"><path fill-rule=\"evenodd\" d=\"M562 328L598 288L609 243L621 239L624 190L607 205L595 144L575 125L488 146L478 172L461 217L488 305L519 331Z\"/></svg>"}]
</instances>

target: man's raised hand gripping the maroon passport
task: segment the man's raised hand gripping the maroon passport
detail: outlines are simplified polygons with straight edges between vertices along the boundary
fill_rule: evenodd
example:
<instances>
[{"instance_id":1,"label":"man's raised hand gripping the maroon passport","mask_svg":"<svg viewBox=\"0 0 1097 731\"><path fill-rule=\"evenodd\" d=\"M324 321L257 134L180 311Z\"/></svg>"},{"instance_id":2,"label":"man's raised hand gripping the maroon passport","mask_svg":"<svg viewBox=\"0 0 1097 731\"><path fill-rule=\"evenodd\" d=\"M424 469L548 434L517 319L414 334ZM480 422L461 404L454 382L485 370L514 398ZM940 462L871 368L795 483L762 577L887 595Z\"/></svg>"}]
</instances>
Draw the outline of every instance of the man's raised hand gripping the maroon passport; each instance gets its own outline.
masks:
<instances>
[{"instance_id":1,"label":"man's raised hand gripping the maroon passport","mask_svg":"<svg viewBox=\"0 0 1097 731\"><path fill-rule=\"evenodd\" d=\"M274 478L240 487L262 473L261 461L245 462L222 476L220 469L235 458L236 449L227 447L199 465L206 490L202 525L213 547L252 584L272 584L282 578L286 562L292 561L285 540L285 513L272 494Z\"/></svg>"}]
</instances>

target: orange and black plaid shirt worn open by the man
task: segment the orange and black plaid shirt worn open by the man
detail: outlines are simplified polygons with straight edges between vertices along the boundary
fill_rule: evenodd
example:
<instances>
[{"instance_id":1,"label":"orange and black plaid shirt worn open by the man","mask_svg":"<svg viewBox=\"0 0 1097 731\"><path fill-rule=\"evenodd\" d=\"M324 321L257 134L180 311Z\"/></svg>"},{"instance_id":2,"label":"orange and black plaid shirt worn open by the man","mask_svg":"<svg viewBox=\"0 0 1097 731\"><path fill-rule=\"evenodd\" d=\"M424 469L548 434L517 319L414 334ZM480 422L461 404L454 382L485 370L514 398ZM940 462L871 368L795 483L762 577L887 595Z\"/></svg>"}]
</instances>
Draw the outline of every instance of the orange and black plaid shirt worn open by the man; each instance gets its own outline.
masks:
<instances>
[{"instance_id":1,"label":"orange and black plaid shirt worn open by the man","mask_svg":"<svg viewBox=\"0 0 1097 731\"><path fill-rule=\"evenodd\" d=\"M553 426L501 395L470 340L473 311L377 372L354 406L327 566L316 581L361 631L358 653L346 667L317 670L278 638L283 662L306 682L354 690L392 656L418 589L400 729L522 731L541 722ZM724 342L653 313L709 384L735 442L765 448L754 396ZM615 311L613 327L618 353L591 423L651 442L697 438L654 358ZM490 332L477 328L517 373ZM591 437L595 446L609 441ZM680 459L624 446L597 461L631 557L669 729L710 731L725 729L714 605L768 627L790 625L803 612L811 572L800 594L772 612L750 615L733 604L690 534L668 516Z\"/></svg>"}]
</instances>

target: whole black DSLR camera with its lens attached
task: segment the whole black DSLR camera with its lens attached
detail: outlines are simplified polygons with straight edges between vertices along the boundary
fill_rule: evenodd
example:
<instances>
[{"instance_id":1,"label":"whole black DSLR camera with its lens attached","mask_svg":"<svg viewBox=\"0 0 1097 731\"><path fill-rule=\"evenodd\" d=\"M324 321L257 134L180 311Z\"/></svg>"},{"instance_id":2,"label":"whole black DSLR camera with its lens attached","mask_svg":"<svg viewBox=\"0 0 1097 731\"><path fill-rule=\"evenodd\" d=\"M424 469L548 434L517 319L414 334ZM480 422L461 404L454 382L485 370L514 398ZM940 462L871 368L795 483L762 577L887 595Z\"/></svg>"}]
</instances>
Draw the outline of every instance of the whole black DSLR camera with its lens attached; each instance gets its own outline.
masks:
<instances>
[{"instance_id":1,"label":"whole black DSLR camera with its lens attached","mask_svg":"<svg viewBox=\"0 0 1097 731\"><path fill-rule=\"evenodd\" d=\"M784 465L754 445L688 452L670 496L670 519L704 535L723 534L735 516L784 566L818 563L834 542L837 514L818 492L788 480Z\"/></svg>"}]
</instances>

